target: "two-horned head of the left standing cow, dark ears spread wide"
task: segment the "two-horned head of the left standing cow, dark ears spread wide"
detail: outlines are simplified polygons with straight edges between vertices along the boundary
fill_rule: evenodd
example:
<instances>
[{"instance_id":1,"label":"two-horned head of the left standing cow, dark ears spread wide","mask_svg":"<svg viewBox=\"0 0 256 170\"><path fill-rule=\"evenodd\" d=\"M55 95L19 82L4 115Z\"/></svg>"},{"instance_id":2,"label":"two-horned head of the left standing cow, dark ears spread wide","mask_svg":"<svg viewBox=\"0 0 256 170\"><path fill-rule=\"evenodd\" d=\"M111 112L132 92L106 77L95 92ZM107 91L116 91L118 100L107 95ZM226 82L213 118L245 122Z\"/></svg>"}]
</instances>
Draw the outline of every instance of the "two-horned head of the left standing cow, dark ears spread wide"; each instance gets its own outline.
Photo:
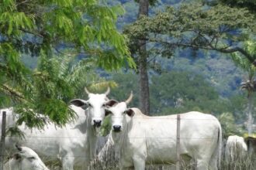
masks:
<instances>
[{"instance_id":1,"label":"two-horned head of the left standing cow, dark ears spread wide","mask_svg":"<svg viewBox=\"0 0 256 170\"><path fill-rule=\"evenodd\" d=\"M103 118L105 117L106 107L111 107L113 104L116 104L116 100L109 100L107 95L110 92L106 90L105 93L90 93L86 87L85 92L88 93L88 100L74 99L71 100L71 104L74 104L77 107L85 108L87 107L87 116L88 120L91 121L91 124L95 128L99 128L102 124Z\"/></svg>"}]
</instances>

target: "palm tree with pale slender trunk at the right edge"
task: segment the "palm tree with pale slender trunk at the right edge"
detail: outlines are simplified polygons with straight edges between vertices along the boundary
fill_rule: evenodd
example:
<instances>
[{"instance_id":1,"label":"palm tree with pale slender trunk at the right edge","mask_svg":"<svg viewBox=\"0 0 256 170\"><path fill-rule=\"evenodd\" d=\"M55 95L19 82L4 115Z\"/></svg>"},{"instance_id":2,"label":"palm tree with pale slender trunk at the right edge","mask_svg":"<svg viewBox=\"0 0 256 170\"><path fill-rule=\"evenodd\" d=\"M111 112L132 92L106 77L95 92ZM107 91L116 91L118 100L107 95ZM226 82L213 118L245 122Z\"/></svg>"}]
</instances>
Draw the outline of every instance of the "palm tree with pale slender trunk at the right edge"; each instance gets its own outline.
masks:
<instances>
[{"instance_id":1,"label":"palm tree with pale slender trunk at the right edge","mask_svg":"<svg viewBox=\"0 0 256 170\"><path fill-rule=\"evenodd\" d=\"M245 43L245 49L247 53L251 54L251 56L254 56L256 59L256 42L253 41L247 41ZM254 118L252 116L253 112L253 94L256 91L256 67L251 64L249 59L243 58L238 53L234 53L232 55L232 59L237 64L237 66L240 66L243 70L245 70L248 74L248 79L245 82L241 83L241 89L247 90L247 131L248 135L251 136L252 134L252 124L254 123Z\"/></svg>"}]
</instances>

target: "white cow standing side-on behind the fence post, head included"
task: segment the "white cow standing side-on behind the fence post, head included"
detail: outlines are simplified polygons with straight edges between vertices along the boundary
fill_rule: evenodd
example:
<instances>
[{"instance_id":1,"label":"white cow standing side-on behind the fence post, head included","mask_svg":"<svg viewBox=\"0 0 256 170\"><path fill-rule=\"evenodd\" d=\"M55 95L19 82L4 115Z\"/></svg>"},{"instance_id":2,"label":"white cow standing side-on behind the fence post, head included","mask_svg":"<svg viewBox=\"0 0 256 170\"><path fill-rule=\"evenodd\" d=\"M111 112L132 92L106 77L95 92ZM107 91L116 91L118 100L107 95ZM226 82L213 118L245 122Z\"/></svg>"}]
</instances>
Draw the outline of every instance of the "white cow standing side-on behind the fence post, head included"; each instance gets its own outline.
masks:
<instances>
[{"instance_id":1,"label":"white cow standing side-on behind the fence post, head included","mask_svg":"<svg viewBox=\"0 0 256 170\"><path fill-rule=\"evenodd\" d=\"M146 164L176 163L176 115L149 117L137 108L127 108L133 95L108 109L109 134L119 157L119 168L144 170ZM192 111L180 114L180 155L195 158L198 170L220 166L222 130L210 114Z\"/></svg>"}]
</instances>

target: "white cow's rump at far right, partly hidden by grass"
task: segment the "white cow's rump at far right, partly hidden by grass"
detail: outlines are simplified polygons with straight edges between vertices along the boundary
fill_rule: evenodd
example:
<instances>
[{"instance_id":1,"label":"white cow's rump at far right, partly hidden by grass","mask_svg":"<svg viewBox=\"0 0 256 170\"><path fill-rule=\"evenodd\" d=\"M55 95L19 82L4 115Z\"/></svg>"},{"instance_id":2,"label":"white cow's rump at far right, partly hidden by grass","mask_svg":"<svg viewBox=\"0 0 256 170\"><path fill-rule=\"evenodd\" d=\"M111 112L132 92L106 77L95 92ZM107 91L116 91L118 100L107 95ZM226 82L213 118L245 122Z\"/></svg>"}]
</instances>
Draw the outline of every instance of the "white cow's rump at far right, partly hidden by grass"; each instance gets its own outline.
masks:
<instances>
[{"instance_id":1,"label":"white cow's rump at far right, partly hidden by grass","mask_svg":"<svg viewBox=\"0 0 256 170\"><path fill-rule=\"evenodd\" d=\"M241 162L247 153L247 145L244 138L234 135L227 138L225 160L230 162Z\"/></svg>"}]
</instances>

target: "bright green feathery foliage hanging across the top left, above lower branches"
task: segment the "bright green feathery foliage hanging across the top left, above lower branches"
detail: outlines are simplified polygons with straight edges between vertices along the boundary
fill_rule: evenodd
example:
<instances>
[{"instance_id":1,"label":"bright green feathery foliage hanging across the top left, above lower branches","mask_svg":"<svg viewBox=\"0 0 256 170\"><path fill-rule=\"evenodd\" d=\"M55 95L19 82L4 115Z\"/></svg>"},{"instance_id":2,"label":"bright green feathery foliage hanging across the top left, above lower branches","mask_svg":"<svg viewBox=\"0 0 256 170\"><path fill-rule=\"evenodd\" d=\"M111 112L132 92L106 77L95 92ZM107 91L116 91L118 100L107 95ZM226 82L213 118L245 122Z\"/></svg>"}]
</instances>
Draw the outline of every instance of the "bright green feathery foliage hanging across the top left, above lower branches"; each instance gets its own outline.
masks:
<instances>
[{"instance_id":1,"label":"bright green feathery foliage hanging across the top left, above lower branches","mask_svg":"<svg viewBox=\"0 0 256 170\"><path fill-rule=\"evenodd\" d=\"M126 61L134 66L126 39L116 30L117 16L123 12L119 5L106 6L96 0L3 1L0 33L17 52L38 55L43 49L49 56L58 43L70 43L78 53L84 51L112 70Z\"/></svg>"}]
</instances>

